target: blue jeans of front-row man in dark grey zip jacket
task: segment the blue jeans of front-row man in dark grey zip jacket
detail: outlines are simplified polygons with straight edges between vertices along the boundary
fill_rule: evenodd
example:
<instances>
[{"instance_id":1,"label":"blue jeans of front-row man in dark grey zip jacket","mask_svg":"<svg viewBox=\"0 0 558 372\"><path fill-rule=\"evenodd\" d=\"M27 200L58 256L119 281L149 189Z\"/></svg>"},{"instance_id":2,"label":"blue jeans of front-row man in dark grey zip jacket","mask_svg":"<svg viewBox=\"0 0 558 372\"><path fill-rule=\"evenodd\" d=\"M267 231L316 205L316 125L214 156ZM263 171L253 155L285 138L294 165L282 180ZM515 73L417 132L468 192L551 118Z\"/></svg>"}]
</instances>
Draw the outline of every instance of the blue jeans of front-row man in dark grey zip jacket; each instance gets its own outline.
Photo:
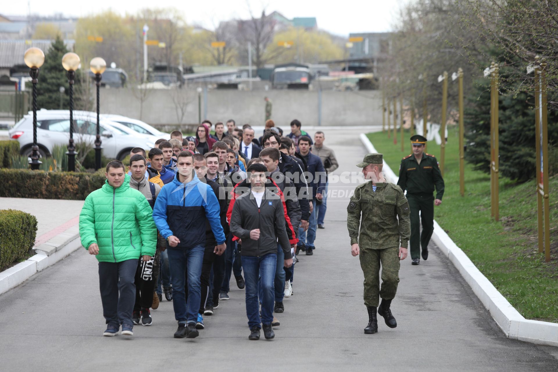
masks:
<instances>
[{"instance_id":1,"label":"blue jeans of front-row man in dark grey zip jacket","mask_svg":"<svg viewBox=\"0 0 558 372\"><path fill-rule=\"evenodd\" d=\"M268 253L262 257L242 256L242 269L246 282L246 315L248 327L260 327L260 323L271 324L273 321L273 281L277 267L277 254ZM259 316L258 277L262 291L262 316Z\"/></svg>"}]
</instances>

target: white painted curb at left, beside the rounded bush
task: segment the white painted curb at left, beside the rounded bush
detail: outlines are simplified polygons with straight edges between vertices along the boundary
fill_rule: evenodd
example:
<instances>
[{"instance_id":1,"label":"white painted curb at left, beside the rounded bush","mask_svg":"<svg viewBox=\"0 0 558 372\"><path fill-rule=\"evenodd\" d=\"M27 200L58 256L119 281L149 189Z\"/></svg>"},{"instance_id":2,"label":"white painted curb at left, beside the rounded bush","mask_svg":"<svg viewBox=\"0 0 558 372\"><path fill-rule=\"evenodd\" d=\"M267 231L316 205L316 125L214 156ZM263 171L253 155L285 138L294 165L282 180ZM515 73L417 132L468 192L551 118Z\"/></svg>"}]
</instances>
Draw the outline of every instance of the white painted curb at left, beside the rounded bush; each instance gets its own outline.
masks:
<instances>
[{"instance_id":1,"label":"white painted curb at left, beside the rounded bush","mask_svg":"<svg viewBox=\"0 0 558 372\"><path fill-rule=\"evenodd\" d=\"M9 291L14 287L19 286L28 278L31 278L37 272L46 269L50 265L54 265L61 259L74 252L74 250L81 247L79 234L74 234L74 228L70 228L64 233L54 236L52 239L39 247L35 247L35 252L39 252L34 256L26 259L23 262L12 266L9 269L0 272L0 294ZM47 255L42 248L45 244L52 244L49 247Z\"/></svg>"}]
</instances>

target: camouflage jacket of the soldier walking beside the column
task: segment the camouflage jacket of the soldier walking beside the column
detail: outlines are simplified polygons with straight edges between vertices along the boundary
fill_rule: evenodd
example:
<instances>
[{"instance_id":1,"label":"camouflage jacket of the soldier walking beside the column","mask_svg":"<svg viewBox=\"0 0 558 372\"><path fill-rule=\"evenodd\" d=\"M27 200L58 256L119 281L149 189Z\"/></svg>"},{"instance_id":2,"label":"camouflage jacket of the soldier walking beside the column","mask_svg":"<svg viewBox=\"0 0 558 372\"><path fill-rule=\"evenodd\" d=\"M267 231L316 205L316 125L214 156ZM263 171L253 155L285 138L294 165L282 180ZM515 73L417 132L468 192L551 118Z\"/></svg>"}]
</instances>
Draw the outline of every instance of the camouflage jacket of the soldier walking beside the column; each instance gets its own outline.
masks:
<instances>
[{"instance_id":1,"label":"camouflage jacket of the soldier walking beside the column","mask_svg":"<svg viewBox=\"0 0 558 372\"><path fill-rule=\"evenodd\" d=\"M393 183L376 183L376 186L374 192L372 182L362 183L350 198L347 207L350 244L372 249L407 248L411 236L407 199Z\"/></svg>"}]
</instances>

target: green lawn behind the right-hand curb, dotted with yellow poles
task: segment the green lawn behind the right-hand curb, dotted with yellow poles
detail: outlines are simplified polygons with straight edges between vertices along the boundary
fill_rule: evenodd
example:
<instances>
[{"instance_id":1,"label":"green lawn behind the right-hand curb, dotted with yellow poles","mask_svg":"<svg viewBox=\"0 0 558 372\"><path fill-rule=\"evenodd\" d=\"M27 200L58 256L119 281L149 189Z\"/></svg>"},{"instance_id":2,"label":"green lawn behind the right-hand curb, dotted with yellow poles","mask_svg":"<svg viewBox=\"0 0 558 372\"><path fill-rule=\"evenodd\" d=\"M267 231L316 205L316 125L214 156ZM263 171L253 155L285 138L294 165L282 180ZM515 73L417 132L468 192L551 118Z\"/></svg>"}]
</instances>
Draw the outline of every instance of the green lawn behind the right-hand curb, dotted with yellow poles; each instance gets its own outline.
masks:
<instances>
[{"instance_id":1,"label":"green lawn behind the right-hand curb, dotted with yellow poles","mask_svg":"<svg viewBox=\"0 0 558 372\"><path fill-rule=\"evenodd\" d=\"M368 138L397 174L405 152L386 133ZM401 135L398 134L398 141ZM500 221L490 218L490 175L465 162L465 196L459 194L458 131L450 128L445 159L445 194L435 219L498 291L527 319L558 322L558 176L550 179L551 261L537 248L535 181L517 184L500 178ZM427 153L440 161L440 146L428 143Z\"/></svg>"}]
</instances>

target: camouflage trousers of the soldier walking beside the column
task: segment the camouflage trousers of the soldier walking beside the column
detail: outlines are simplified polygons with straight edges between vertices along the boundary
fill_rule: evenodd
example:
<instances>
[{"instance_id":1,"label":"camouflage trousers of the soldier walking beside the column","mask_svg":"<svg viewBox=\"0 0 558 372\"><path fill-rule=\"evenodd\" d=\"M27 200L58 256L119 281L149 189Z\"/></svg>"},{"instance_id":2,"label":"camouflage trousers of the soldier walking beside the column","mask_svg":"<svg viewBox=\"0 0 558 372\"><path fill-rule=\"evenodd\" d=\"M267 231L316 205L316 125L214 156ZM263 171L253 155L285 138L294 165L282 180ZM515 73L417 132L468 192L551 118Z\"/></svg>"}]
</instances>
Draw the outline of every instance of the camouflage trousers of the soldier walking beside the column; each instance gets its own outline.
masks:
<instances>
[{"instance_id":1,"label":"camouflage trousers of the soldier walking beside the column","mask_svg":"<svg viewBox=\"0 0 558 372\"><path fill-rule=\"evenodd\" d=\"M360 247L360 267L364 273L364 305L378 307L379 297L393 299L399 283L399 247L371 249ZM382 289L380 289L380 267Z\"/></svg>"}]
</instances>

